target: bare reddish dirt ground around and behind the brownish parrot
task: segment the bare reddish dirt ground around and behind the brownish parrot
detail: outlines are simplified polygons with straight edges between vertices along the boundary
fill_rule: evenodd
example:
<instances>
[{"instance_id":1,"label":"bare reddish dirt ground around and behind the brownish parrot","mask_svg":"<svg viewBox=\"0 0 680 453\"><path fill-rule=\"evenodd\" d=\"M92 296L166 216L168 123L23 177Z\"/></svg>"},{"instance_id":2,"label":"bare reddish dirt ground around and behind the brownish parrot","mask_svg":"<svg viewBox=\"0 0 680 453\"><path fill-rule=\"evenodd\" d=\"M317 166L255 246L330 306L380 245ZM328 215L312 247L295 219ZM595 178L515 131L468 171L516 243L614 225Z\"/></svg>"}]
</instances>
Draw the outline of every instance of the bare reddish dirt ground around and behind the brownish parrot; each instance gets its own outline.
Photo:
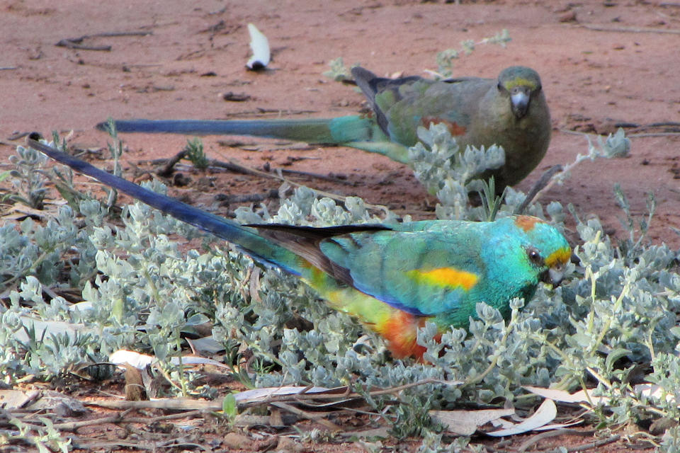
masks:
<instances>
[{"instance_id":1,"label":"bare reddish dirt ground around and behind the brownish parrot","mask_svg":"<svg viewBox=\"0 0 680 453\"><path fill-rule=\"evenodd\" d=\"M616 122L634 123L631 154L577 167L565 185L543 201L572 203L583 215L596 214L609 231L621 234L623 216L613 197L620 183L633 214L646 214L647 193L659 204L650 240L678 246L680 228L680 139L672 127L680 113L680 4L668 1L462 1L462 4L407 0L239 0L0 2L0 162L14 154L8 142L17 132L73 131L70 144L101 149L107 135L97 122L115 118L331 117L356 113L363 98L322 72L343 57L376 74L424 74L436 69L436 52L480 41L503 28L507 48L480 45L455 62L454 76L496 77L513 64L538 70L553 116L553 140L543 163L519 188L528 190L545 168L565 164L587 150L573 131L613 132ZM255 23L273 49L268 70L246 71ZM149 35L93 36L81 45L111 50L59 47L65 38L111 32ZM246 101L225 101L223 93ZM187 137L127 134L125 175L153 171L149 159L167 158ZM233 137L205 137L208 156L237 159L254 168L286 168L334 176L341 182L288 176L291 180L396 212L431 216L436 200L409 168L354 149L319 148L247 151ZM18 140L23 142L23 140ZM246 144L276 144L242 139ZM276 147L276 146L275 146ZM101 154L106 156L106 154ZM300 159L302 158L302 159ZM101 162L106 167L106 162ZM0 170L4 170L0 166ZM181 170L188 185L171 195L228 214L215 201L227 193L265 193L271 178L229 172ZM171 181L170 181L171 182ZM550 440L574 445L582 438ZM561 443L560 443L561 442ZM255 447L252 447L255 448ZM316 451L319 446L305 447ZM326 447L328 448L328 447ZM361 447L355 446L356 451ZM599 451L605 451L601 447ZM607 451L623 451L623 443ZM630 451L630 449L626 449Z\"/></svg>"}]
</instances>

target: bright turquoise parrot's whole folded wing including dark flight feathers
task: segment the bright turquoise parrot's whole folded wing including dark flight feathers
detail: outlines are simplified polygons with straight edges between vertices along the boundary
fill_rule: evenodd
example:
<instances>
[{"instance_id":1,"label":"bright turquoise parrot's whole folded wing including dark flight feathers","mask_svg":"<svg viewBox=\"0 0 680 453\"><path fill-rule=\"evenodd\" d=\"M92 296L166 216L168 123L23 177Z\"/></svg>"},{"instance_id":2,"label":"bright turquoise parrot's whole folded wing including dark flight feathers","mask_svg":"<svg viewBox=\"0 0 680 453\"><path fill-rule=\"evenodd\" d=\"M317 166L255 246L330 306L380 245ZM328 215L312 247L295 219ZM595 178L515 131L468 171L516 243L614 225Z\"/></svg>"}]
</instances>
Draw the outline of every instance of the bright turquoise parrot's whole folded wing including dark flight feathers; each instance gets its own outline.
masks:
<instances>
[{"instance_id":1,"label":"bright turquoise parrot's whole folded wing including dark flight feathers","mask_svg":"<svg viewBox=\"0 0 680 453\"><path fill-rule=\"evenodd\" d=\"M410 314L431 316L457 309L485 272L477 252L481 224L474 229L468 222L438 222L248 226L345 285Z\"/></svg>"}]
</instances>

